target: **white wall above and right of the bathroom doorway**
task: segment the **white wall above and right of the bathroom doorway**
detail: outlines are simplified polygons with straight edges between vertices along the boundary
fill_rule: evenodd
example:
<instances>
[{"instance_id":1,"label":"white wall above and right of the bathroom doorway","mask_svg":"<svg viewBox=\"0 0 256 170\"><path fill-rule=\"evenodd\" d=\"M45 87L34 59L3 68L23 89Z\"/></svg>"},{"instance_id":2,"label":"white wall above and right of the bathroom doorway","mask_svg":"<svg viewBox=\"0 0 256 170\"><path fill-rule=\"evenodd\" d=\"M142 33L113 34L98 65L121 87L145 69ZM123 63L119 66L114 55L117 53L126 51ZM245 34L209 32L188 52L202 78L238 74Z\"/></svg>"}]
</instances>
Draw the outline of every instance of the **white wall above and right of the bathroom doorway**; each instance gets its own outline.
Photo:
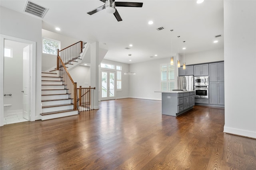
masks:
<instances>
[{"instance_id":1,"label":"white wall above and right of the bathroom doorway","mask_svg":"<svg viewBox=\"0 0 256 170\"><path fill-rule=\"evenodd\" d=\"M34 56L36 59L35 115L39 116L41 113L42 20L2 6L0 6L0 19L1 34L36 42L36 56ZM0 107L2 106L0 105Z\"/></svg>"}]
</instances>

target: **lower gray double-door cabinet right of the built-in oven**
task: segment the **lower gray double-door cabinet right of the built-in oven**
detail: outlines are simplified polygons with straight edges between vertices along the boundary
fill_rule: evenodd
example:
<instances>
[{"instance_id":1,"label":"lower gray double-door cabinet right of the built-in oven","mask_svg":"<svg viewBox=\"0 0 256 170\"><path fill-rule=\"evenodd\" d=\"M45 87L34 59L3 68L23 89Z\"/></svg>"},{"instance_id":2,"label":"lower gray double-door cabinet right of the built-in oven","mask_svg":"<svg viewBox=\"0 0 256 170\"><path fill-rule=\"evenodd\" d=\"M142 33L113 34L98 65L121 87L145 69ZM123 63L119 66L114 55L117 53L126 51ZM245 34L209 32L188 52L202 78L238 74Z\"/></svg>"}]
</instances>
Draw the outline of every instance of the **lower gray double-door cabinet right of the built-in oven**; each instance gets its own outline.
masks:
<instances>
[{"instance_id":1,"label":"lower gray double-door cabinet right of the built-in oven","mask_svg":"<svg viewBox=\"0 0 256 170\"><path fill-rule=\"evenodd\" d=\"M224 105L224 82L210 82L210 104Z\"/></svg>"}]
</instances>

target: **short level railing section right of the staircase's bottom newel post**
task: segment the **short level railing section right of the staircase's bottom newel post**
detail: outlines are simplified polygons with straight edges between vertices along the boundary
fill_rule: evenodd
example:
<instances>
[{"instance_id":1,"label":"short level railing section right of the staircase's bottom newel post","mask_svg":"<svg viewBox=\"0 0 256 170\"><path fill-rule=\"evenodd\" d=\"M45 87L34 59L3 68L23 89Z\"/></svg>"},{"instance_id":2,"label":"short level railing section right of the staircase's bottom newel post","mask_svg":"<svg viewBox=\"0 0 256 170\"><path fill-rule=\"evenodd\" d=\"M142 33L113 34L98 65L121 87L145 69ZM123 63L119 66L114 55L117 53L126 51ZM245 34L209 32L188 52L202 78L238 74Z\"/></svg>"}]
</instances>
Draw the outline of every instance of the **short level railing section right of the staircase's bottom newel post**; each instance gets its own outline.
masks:
<instances>
[{"instance_id":1,"label":"short level railing section right of the staircase's bottom newel post","mask_svg":"<svg viewBox=\"0 0 256 170\"><path fill-rule=\"evenodd\" d=\"M77 88L77 108L79 111L86 111L93 109L93 92L95 90L94 88L82 88L80 86Z\"/></svg>"}]
</instances>

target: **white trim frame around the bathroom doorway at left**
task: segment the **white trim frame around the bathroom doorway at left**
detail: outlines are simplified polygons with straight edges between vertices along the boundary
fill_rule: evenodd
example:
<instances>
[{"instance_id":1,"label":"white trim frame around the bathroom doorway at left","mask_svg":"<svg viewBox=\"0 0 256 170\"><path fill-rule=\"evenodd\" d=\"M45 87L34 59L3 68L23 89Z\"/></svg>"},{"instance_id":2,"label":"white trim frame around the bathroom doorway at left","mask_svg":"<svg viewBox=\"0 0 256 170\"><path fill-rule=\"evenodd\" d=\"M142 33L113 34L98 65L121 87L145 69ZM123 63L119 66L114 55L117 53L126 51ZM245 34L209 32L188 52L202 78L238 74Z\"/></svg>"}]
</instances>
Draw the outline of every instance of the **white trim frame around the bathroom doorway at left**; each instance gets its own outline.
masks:
<instances>
[{"instance_id":1,"label":"white trim frame around the bathroom doorway at left","mask_svg":"<svg viewBox=\"0 0 256 170\"><path fill-rule=\"evenodd\" d=\"M35 121L36 117L36 42L12 37L8 35L0 35L0 126L4 125L4 40L16 41L30 45L30 121Z\"/></svg>"}]
</instances>

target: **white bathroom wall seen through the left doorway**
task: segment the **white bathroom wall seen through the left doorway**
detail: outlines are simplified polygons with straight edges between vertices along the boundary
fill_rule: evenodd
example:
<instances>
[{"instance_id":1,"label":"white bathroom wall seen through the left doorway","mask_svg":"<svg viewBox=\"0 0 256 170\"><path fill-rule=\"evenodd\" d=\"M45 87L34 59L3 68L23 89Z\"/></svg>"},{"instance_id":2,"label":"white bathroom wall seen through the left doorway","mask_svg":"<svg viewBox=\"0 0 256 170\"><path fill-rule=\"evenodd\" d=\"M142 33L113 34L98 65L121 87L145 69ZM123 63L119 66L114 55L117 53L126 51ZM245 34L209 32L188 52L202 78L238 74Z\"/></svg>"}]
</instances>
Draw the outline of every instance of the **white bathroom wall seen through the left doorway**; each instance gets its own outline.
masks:
<instances>
[{"instance_id":1,"label":"white bathroom wall seen through the left doorway","mask_svg":"<svg viewBox=\"0 0 256 170\"><path fill-rule=\"evenodd\" d=\"M28 44L4 41L4 47L13 50L12 58L4 57L4 94L12 94L4 97L4 104L12 104L8 111L23 109L23 48L26 46Z\"/></svg>"}]
</instances>

